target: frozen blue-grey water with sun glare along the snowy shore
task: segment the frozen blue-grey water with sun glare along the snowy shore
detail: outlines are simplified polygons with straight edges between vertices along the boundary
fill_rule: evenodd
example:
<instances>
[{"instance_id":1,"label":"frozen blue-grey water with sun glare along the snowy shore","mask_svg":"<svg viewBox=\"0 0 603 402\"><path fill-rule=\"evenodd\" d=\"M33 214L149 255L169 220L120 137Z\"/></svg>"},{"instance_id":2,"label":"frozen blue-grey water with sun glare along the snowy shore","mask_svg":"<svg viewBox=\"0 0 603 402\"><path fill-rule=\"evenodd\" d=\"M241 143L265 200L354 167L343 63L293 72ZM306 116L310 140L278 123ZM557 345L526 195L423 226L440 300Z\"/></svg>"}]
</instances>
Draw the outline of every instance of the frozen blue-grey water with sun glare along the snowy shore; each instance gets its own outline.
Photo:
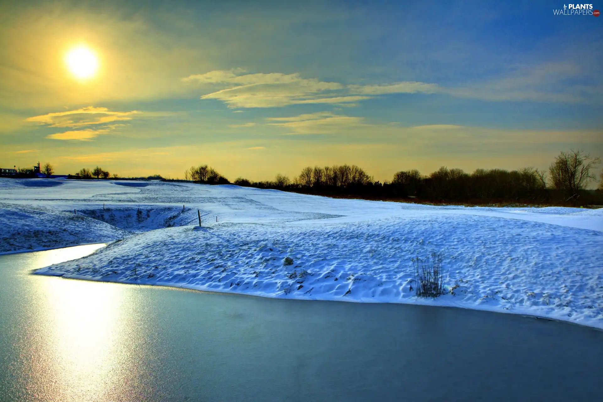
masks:
<instances>
[{"instance_id":1,"label":"frozen blue-grey water with sun glare along the snowy shore","mask_svg":"<svg viewBox=\"0 0 603 402\"><path fill-rule=\"evenodd\" d=\"M603 331L449 307L31 275L0 256L2 401L599 400Z\"/></svg>"}]
</instances>

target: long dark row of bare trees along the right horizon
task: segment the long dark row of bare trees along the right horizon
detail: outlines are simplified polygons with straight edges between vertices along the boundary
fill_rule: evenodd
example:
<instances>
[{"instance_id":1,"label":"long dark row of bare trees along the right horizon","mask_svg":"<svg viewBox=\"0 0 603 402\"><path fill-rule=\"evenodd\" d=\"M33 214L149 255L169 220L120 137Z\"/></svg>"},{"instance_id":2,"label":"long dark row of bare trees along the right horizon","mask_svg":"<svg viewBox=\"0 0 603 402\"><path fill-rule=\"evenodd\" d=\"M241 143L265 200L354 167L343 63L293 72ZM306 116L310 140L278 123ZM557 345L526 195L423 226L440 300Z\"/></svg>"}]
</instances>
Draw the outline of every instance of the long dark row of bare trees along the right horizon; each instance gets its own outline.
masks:
<instances>
[{"instance_id":1,"label":"long dark row of bare trees along the right horizon","mask_svg":"<svg viewBox=\"0 0 603 402\"><path fill-rule=\"evenodd\" d=\"M376 199L411 197L431 202L603 204L601 192L585 190L590 181L596 180L593 170L600 162L601 159L590 157L584 151L572 149L561 152L548 171L476 169L467 173L443 166L429 175L421 175L416 169L400 171L394 174L391 182L380 183L355 165L308 166L292 180L277 174L274 180L259 182L239 177L235 184L318 195ZM601 180L599 189L603 190L603 172Z\"/></svg>"}]
</instances>

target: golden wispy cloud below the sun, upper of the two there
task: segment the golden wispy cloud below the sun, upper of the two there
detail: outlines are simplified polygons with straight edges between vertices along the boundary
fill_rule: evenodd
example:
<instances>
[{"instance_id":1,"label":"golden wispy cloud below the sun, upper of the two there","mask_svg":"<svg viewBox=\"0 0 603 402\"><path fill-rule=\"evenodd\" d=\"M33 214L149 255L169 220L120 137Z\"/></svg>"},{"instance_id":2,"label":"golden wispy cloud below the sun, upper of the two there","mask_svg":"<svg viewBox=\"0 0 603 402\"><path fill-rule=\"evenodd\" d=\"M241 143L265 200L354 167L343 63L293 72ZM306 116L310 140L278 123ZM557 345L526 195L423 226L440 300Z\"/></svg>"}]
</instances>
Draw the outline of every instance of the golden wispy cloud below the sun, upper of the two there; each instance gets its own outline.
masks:
<instances>
[{"instance_id":1,"label":"golden wispy cloud below the sun, upper of the two there","mask_svg":"<svg viewBox=\"0 0 603 402\"><path fill-rule=\"evenodd\" d=\"M141 113L138 110L112 111L106 107L87 106L77 110L57 111L46 115L25 119L27 122L37 122L49 127L85 127L88 125L109 124L116 121L127 121L132 115Z\"/></svg>"}]
</instances>

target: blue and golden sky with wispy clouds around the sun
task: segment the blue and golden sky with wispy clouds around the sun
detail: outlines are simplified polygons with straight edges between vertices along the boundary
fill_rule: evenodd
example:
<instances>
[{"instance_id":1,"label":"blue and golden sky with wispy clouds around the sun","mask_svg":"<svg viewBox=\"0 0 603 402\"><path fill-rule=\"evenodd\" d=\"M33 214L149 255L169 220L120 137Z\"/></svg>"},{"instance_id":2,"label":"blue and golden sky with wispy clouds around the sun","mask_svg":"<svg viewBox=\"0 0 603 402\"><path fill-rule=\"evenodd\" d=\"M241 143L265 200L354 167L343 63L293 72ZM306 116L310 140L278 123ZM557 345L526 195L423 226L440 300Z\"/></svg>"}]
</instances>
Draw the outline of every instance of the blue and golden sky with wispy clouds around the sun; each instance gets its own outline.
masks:
<instances>
[{"instance_id":1,"label":"blue and golden sky with wispy clouds around the sun","mask_svg":"<svg viewBox=\"0 0 603 402\"><path fill-rule=\"evenodd\" d=\"M601 156L603 19L563 5L1 2L0 164L388 180ZM89 80L74 46L98 57Z\"/></svg>"}]
</instances>

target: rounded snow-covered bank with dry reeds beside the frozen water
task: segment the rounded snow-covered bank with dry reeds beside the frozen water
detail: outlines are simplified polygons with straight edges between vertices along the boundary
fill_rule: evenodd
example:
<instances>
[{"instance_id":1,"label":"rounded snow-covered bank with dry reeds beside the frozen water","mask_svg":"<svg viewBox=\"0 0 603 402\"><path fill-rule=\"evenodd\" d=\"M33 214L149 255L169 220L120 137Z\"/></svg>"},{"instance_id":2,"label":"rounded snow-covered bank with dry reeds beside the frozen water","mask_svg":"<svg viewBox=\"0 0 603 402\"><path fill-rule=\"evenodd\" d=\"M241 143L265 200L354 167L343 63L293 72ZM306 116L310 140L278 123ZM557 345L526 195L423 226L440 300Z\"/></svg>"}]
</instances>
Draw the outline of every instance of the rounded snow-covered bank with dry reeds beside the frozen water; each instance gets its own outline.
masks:
<instances>
[{"instance_id":1,"label":"rounded snow-covered bank with dry reeds beside the frozen water","mask_svg":"<svg viewBox=\"0 0 603 402\"><path fill-rule=\"evenodd\" d=\"M528 313L603 328L596 231L487 216L347 224L224 224L150 231L38 271L308 300L421 303ZM444 255L453 294L417 300L411 257ZM285 257L293 260L286 265Z\"/></svg>"}]
</instances>

